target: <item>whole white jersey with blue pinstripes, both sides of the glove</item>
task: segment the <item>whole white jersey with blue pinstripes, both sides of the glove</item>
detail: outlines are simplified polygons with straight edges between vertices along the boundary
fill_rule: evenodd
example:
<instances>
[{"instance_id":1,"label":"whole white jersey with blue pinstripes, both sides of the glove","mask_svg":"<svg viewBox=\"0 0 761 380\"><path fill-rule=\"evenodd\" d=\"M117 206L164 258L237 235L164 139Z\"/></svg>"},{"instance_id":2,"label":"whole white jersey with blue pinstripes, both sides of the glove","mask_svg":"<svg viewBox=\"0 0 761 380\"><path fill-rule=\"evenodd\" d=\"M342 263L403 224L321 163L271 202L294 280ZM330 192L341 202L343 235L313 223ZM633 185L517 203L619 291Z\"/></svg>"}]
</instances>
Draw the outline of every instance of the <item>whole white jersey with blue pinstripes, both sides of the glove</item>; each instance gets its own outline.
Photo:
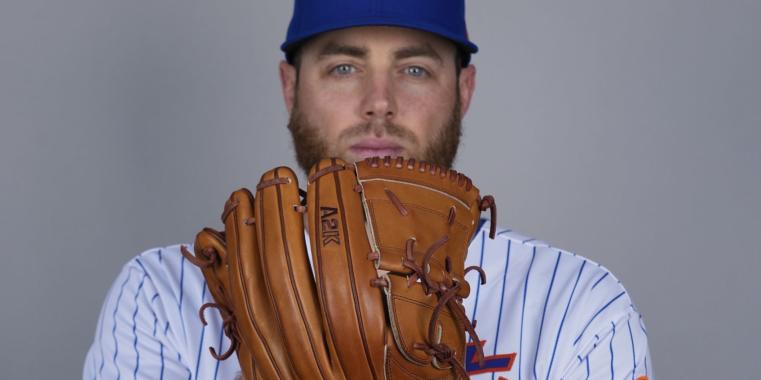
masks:
<instances>
[{"instance_id":1,"label":"whole white jersey with blue pinstripes, both sides of the glove","mask_svg":"<svg viewBox=\"0 0 761 380\"><path fill-rule=\"evenodd\" d=\"M473 380L653 379L642 317L621 283L600 264L509 230L488 238L488 223L470 245L472 293L463 305L478 321L486 367L468 361ZM472 277L471 277L472 276ZM84 380L116 378L232 380L235 355L212 358L229 341L201 271L180 246L151 249L129 261L100 312L84 363ZM467 347L467 357L475 349Z\"/></svg>"}]
</instances>

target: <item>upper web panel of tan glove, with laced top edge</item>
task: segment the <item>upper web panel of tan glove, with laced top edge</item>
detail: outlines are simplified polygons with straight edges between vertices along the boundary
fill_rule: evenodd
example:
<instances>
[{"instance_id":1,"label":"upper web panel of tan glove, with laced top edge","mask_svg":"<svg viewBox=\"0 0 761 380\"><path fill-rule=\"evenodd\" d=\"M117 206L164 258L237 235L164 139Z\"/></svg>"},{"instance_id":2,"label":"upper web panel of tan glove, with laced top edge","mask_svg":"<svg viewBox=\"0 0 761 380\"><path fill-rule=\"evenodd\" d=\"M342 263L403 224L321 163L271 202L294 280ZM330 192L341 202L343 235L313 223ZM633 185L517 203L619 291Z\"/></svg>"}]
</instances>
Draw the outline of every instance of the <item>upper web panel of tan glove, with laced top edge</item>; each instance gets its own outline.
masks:
<instances>
[{"instance_id":1,"label":"upper web panel of tan glove, with laced top edge","mask_svg":"<svg viewBox=\"0 0 761 380\"><path fill-rule=\"evenodd\" d=\"M380 254L378 268L412 274L402 265L408 259L407 239L416 239L413 255L420 264L426 250L447 235L445 246L429 259L431 266L438 267L431 268L431 277L443 280L447 252L458 252L451 255L451 269L462 279L465 252L481 214L479 192L470 179L444 166L402 157L368 158L356 168L368 214L384 216L370 218Z\"/></svg>"}]
</instances>

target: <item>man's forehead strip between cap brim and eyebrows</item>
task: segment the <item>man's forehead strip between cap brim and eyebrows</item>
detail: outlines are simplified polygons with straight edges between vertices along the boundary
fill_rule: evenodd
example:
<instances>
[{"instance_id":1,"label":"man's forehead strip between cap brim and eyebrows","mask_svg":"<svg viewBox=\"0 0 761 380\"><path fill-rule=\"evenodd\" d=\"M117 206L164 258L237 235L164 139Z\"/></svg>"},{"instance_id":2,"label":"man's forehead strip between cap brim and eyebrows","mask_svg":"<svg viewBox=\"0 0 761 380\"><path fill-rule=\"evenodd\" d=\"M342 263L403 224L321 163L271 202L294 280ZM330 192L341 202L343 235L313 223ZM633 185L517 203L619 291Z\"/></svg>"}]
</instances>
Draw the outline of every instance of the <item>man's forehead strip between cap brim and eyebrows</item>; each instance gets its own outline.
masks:
<instances>
[{"instance_id":1,"label":"man's forehead strip between cap brim and eyebrows","mask_svg":"<svg viewBox=\"0 0 761 380\"><path fill-rule=\"evenodd\" d=\"M339 49L336 49L339 48ZM444 37L423 30L406 27L350 27L331 30L312 37L301 47L304 55L313 55L319 59L323 55L341 52L362 52L364 55L394 55L396 52L428 51L438 55L444 61L454 57L454 43ZM400 55L396 54L398 58Z\"/></svg>"}]
</instances>

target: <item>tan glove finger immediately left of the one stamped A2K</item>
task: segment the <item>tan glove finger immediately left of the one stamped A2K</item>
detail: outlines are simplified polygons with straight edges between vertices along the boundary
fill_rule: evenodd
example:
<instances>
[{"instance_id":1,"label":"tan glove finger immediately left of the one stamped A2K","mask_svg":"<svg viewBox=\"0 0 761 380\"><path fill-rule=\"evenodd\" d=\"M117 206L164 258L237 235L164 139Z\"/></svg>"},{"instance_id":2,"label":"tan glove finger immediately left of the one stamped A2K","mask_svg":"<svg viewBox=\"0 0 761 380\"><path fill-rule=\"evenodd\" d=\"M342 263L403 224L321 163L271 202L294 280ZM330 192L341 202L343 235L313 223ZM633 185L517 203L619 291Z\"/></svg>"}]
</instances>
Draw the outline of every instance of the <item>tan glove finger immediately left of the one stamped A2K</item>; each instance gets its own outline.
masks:
<instances>
[{"instance_id":1,"label":"tan glove finger immediately left of the one stamped A2K","mask_svg":"<svg viewBox=\"0 0 761 380\"><path fill-rule=\"evenodd\" d=\"M274 306L270 318L298 378L333 378L314 277L304 239L298 179L287 167L264 173L256 185L256 231L263 279ZM275 325L276 324L276 325Z\"/></svg>"}]
</instances>

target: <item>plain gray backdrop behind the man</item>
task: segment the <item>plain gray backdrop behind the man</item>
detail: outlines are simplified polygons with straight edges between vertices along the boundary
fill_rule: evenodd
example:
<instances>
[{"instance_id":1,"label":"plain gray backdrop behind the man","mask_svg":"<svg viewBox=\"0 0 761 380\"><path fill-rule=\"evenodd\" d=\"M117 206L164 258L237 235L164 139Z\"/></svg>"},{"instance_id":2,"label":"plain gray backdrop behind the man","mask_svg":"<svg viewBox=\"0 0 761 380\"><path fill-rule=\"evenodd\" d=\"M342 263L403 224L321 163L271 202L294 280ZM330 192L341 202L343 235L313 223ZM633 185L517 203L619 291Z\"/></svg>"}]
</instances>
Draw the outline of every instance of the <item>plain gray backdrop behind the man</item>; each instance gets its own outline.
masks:
<instances>
[{"instance_id":1,"label":"plain gray backdrop behind the man","mask_svg":"<svg viewBox=\"0 0 761 380\"><path fill-rule=\"evenodd\" d=\"M457 169L626 284L658 378L756 378L761 2L470 0ZM78 378L145 249L295 166L291 2L0 2L0 378ZM231 166L230 163L234 163ZM496 176L495 176L496 175Z\"/></svg>"}]
</instances>

